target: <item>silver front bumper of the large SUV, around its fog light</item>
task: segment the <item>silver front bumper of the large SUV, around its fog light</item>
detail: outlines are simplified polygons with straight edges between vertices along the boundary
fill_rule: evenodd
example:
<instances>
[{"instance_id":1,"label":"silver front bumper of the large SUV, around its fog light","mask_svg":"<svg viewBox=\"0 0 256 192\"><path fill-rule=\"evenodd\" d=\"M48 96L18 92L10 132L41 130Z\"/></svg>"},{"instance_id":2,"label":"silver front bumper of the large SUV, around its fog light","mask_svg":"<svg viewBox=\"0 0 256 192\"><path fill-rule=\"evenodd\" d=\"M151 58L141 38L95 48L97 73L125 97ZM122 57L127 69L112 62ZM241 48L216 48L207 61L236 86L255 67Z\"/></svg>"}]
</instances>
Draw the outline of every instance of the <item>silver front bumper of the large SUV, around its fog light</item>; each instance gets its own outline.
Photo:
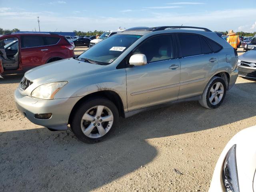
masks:
<instances>
[{"instance_id":1,"label":"silver front bumper of the large SUV, around its fog light","mask_svg":"<svg viewBox=\"0 0 256 192\"><path fill-rule=\"evenodd\" d=\"M67 130L70 112L81 97L42 100L15 91L14 99L18 110L32 123L54 130ZM49 119L37 119L35 114L52 113Z\"/></svg>"}]
</instances>

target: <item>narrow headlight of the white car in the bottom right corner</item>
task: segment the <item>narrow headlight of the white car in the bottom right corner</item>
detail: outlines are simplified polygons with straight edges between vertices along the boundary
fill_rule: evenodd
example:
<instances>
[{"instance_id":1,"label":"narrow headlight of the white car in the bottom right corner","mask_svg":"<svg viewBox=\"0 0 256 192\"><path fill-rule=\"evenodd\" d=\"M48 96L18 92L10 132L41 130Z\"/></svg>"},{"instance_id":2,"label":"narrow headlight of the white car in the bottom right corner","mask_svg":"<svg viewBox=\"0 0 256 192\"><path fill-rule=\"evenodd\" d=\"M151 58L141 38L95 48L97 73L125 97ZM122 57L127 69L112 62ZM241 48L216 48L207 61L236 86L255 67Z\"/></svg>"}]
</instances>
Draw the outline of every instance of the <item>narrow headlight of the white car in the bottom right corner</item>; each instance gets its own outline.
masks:
<instances>
[{"instance_id":1,"label":"narrow headlight of the white car in the bottom right corner","mask_svg":"<svg viewBox=\"0 0 256 192\"><path fill-rule=\"evenodd\" d=\"M222 168L222 182L226 192L239 192L236 168L236 144L226 154Z\"/></svg>"}]
</instances>

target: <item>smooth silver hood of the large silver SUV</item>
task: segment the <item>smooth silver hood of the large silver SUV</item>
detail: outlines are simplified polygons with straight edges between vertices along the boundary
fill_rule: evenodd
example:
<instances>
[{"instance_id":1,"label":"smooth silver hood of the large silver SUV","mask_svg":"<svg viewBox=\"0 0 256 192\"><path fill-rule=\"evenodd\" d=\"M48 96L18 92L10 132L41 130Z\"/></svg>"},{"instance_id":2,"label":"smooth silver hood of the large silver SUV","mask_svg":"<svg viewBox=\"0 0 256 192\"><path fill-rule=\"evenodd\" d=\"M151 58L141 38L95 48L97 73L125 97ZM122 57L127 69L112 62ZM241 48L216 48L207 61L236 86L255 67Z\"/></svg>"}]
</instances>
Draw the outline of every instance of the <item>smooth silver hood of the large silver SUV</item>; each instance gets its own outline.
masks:
<instances>
[{"instance_id":1,"label":"smooth silver hood of the large silver SUV","mask_svg":"<svg viewBox=\"0 0 256 192\"><path fill-rule=\"evenodd\" d=\"M26 72L25 76L30 81L38 83L68 81L102 67L102 65L68 58L33 68Z\"/></svg>"}]
</instances>

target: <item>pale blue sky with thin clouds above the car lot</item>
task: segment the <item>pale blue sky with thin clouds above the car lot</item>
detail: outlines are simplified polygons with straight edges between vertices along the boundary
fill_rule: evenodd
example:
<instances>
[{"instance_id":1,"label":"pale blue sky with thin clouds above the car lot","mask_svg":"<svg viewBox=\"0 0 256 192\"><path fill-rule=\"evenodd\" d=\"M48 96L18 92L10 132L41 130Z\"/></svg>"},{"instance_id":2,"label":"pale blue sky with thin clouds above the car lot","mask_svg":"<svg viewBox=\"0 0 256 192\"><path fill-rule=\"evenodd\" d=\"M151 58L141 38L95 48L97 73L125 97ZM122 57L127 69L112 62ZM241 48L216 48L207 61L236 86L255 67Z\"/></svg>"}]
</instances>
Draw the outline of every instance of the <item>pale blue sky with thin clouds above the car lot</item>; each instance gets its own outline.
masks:
<instances>
[{"instance_id":1,"label":"pale blue sky with thin clouds above the car lot","mask_svg":"<svg viewBox=\"0 0 256 192\"><path fill-rule=\"evenodd\" d=\"M256 0L0 0L0 28L87 32L135 26L198 26L255 32Z\"/></svg>"}]
</instances>

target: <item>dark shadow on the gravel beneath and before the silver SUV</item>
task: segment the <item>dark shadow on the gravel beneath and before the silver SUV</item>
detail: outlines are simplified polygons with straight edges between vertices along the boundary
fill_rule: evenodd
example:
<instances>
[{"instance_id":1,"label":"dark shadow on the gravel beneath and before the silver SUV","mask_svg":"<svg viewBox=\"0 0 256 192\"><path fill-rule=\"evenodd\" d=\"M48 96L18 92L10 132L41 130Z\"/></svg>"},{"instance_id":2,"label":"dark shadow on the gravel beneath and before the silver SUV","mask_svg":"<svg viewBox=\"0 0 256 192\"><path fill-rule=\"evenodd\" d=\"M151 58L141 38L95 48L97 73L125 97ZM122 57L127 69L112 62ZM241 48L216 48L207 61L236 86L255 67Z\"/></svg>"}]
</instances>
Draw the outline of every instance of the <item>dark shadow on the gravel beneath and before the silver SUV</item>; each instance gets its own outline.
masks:
<instances>
[{"instance_id":1,"label":"dark shadow on the gravel beneath and before the silver SUV","mask_svg":"<svg viewBox=\"0 0 256 192\"><path fill-rule=\"evenodd\" d=\"M250 91L248 91L250 90ZM236 84L220 108L175 104L120 120L116 134L83 144L74 134L46 128L0 133L0 190L89 191L151 162L148 139L216 128L256 115L256 84ZM234 111L240 109L239 116Z\"/></svg>"}]
</instances>

